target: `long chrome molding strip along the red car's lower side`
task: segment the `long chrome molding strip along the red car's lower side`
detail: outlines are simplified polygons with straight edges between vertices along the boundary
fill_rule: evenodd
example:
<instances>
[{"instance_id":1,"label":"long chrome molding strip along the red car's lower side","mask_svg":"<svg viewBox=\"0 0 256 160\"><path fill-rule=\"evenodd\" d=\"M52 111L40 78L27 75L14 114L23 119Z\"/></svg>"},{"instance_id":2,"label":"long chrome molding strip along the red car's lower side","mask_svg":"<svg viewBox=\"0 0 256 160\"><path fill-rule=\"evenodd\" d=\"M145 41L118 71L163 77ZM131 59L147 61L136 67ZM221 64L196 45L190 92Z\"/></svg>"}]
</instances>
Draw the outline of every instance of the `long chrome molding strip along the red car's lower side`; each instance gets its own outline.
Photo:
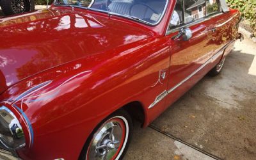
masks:
<instances>
[{"instance_id":1,"label":"long chrome molding strip along the red car's lower side","mask_svg":"<svg viewBox=\"0 0 256 160\"><path fill-rule=\"evenodd\" d=\"M218 51L216 54L214 54L214 56L212 56L212 58L210 58L209 60L207 60L203 65L201 65L198 69L196 69L192 74L190 74L188 77L186 77L185 79L183 79L182 81L180 81L180 83L178 83L177 85L173 86L173 88L170 88L170 90L166 91L164 90L163 93L161 93L160 95L158 95L155 99L155 101L150 104L150 106L148 107L148 109L153 108L154 106L156 106L156 104L158 102L160 102L161 100L164 99L164 97L166 97L168 94L172 93L174 90L176 90L179 86L181 86L183 83L185 83L186 81L188 81L191 77L195 76L195 74L197 74L200 70L202 70L206 65L210 64L212 60L215 60L216 58L218 58L218 56L221 56L221 54L223 54L223 51L226 49L226 47L229 44L232 44L231 41L228 44L224 45L224 47L222 47L220 49L220 51Z\"/></svg>"}]
</instances>

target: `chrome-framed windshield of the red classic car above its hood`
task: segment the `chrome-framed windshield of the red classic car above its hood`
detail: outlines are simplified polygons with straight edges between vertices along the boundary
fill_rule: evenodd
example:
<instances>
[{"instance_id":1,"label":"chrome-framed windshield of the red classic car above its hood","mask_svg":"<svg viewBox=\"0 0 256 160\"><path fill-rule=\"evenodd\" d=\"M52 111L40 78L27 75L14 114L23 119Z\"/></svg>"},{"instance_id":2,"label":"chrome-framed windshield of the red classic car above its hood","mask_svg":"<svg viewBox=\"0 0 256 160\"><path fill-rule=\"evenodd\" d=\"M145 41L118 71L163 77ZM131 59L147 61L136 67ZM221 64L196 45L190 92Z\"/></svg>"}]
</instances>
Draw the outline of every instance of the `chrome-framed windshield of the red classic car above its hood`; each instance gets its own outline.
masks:
<instances>
[{"instance_id":1,"label":"chrome-framed windshield of the red classic car above its hood","mask_svg":"<svg viewBox=\"0 0 256 160\"><path fill-rule=\"evenodd\" d=\"M147 24L157 24L163 17L168 0L55 0L54 4L72 5L113 13L139 20Z\"/></svg>"}]
</instances>

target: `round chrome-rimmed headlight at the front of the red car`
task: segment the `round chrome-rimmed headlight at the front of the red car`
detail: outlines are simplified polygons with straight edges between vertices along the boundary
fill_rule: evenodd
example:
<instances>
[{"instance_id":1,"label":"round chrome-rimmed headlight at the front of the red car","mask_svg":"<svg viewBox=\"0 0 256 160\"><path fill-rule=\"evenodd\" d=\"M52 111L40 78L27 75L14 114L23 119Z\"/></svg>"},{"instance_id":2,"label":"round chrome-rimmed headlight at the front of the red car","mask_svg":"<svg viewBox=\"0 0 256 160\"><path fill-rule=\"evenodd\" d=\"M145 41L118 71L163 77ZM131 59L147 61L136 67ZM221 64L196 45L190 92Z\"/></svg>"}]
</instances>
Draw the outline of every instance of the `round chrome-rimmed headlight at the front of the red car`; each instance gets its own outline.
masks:
<instances>
[{"instance_id":1,"label":"round chrome-rimmed headlight at the front of the red car","mask_svg":"<svg viewBox=\"0 0 256 160\"><path fill-rule=\"evenodd\" d=\"M0 143L9 150L16 150L26 144L19 120L5 106L0 107Z\"/></svg>"}]
</instances>

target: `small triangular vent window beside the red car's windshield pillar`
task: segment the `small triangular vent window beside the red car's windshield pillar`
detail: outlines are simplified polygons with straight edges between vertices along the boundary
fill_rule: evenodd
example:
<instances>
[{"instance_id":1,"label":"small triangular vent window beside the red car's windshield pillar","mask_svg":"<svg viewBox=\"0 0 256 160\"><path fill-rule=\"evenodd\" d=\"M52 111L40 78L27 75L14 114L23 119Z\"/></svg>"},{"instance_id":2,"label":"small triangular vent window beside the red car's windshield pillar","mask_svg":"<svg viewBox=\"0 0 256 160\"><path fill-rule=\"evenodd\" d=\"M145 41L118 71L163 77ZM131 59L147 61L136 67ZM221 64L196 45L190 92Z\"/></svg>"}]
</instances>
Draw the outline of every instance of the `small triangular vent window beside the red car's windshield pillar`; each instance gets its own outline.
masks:
<instances>
[{"instance_id":1,"label":"small triangular vent window beside the red car's windshield pillar","mask_svg":"<svg viewBox=\"0 0 256 160\"><path fill-rule=\"evenodd\" d=\"M172 18L170 20L170 26L169 28L175 28L177 26L180 26L180 24L183 24L183 3L182 0L177 0L176 6L172 13Z\"/></svg>"}]
</instances>

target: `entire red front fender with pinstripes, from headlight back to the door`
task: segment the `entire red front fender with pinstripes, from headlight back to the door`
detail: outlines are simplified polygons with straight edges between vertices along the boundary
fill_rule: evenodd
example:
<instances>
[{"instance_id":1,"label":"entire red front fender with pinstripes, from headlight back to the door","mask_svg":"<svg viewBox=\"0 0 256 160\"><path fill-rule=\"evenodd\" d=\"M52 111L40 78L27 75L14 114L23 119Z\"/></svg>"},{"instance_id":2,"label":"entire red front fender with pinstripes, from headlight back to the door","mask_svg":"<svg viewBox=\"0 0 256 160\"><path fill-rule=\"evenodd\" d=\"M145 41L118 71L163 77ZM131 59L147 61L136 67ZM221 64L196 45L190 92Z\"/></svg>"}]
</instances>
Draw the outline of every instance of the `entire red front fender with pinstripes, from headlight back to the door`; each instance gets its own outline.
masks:
<instances>
[{"instance_id":1,"label":"entire red front fender with pinstripes, from headlight back to the door","mask_svg":"<svg viewBox=\"0 0 256 160\"><path fill-rule=\"evenodd\" d=\"M1 100L17 106L28 117L34 135L31 147L17 150L19 156L77 159L97 124L129 102L142 104L147 125L161 112L157 108L149 111L148 106L165 87L152 85L159 79L159 69L170 63L162 41L148 38L115 52L81 58L8 88Z\"/></svg>"}]
</instances>

